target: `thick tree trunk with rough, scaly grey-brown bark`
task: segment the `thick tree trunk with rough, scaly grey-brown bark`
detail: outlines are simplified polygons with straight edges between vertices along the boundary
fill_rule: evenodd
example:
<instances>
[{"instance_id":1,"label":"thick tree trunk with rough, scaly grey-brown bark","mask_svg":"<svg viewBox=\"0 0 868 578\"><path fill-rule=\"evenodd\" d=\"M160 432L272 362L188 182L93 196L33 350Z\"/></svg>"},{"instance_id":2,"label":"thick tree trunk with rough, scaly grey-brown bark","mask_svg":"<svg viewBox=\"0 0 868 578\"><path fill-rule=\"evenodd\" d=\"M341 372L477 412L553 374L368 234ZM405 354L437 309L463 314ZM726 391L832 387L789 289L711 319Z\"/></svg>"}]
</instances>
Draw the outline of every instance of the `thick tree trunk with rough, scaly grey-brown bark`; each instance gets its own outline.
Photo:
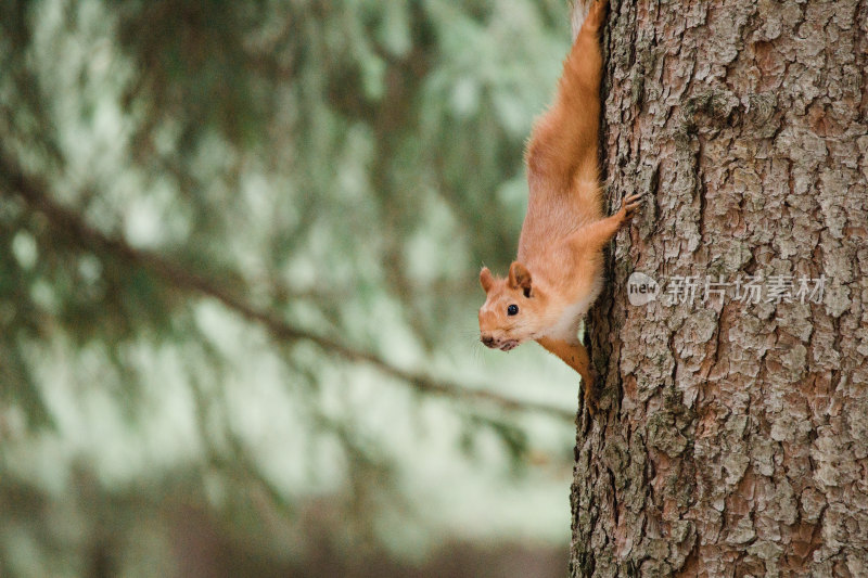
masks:
<instances>
[{"instance_id":1,"label":"thick tree trunk with rough, scaly grey-brown bark","mask_svg":"<svg viewBox=\"0 0 868 578\"><path fill-rule=\"evenodd\" d=\"M868 576L867 34L866 0L613 1L603 169L646 198L589 319L572 576Z\"/></svg>"}]
</instances>

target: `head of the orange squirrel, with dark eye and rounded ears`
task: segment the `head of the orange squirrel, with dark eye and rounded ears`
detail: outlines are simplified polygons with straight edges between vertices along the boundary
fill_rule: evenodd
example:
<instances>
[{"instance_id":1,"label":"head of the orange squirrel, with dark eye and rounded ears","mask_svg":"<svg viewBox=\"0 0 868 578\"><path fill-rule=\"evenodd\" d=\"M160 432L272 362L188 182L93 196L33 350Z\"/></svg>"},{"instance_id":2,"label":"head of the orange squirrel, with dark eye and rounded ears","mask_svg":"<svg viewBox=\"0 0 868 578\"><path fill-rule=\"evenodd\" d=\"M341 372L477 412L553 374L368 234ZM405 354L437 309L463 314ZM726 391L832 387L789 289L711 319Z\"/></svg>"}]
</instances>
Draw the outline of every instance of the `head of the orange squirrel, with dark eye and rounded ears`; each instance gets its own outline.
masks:
<instances>
[{"instance_id":1,"label":"head of the orange squirrel, with dark eye and rounded ears","mask_svg":"<svg viewBox=\"0 0 868 578\"><path fill-rule=\"evenodd\" d=\"M483 267L480 283L486 294L480 309L480 341L486 347L509 351L545 329L546 296L522 264L510 265L507 279L497 279Z\"/></svg>"}]
</instances>

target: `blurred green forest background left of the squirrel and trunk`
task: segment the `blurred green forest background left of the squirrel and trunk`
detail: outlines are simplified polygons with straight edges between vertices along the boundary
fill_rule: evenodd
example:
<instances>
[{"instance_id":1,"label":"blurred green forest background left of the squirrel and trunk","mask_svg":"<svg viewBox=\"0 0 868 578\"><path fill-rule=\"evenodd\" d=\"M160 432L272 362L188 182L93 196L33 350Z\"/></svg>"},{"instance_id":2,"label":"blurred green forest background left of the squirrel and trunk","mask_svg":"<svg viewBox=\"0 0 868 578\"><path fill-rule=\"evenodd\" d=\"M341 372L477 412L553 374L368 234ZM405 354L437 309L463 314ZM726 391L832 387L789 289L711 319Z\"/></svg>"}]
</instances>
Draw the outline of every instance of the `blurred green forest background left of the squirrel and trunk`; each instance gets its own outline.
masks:
<instances>
[{"instance_id":1,"label":"blurred green forest background left of the squirrel and trunk","mask_svg":"<svg viewBox=\"0 0 868 578\"><path fill-rule=\"evenodd\" d=\"M562 0L0 3L0 576L563 576L477 342Z\"/></svg>"}]
</instances>

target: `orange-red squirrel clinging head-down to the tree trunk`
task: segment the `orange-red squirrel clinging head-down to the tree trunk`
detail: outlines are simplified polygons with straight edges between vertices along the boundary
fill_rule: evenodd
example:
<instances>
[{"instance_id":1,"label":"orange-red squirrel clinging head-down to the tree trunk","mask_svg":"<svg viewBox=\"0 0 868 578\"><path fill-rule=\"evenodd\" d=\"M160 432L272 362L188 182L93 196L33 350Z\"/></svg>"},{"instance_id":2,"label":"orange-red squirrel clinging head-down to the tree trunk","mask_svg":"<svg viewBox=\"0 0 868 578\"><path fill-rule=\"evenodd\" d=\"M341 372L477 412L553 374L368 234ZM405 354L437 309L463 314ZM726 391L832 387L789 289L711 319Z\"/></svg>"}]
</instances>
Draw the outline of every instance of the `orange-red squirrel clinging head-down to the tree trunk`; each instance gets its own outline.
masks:
<instances>
[{"instance_id":1,"label":"orange-red squirrel clinging head-down to the tree trunk","mask_svg":"<svg viewBox=\"0 0 868 578\"><path fill-rule=\"evenodd\" d=\"M518 259L506 279L495 278L487 267L480 272L486 293L480 334L487 347L503 351L536 341L582 375L592 411L595 375L578 327L602 291L602 249L629 223L639 195L623 200L615 215L603 215L599 31L608 0L585 4L588 13L564 62L554 102L535 123L527 144L529 200Z\"/></svg>"}]
</instances>

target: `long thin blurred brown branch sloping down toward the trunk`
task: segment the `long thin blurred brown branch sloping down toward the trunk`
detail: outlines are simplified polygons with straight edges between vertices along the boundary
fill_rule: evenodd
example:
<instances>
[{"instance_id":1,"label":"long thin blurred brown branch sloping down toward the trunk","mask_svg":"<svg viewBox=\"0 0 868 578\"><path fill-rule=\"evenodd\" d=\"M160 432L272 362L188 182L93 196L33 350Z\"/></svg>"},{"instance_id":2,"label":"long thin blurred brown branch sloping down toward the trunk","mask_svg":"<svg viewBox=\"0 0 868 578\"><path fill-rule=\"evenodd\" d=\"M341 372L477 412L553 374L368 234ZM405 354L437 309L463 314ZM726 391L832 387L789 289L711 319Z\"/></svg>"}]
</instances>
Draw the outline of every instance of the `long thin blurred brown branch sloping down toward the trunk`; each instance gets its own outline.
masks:
<instances>
[{"instance_id":1,"label":"long thin blurred brown branch sloping down toward the trunk","mask_svg":"<svg viewBox=\"0 0 868 578\"><path fill-rule=\"evenodd\" d=\"M51 200L43 192L48 190L48 187L38 178L25 175L14 162L2 154L2 151L0 151L0 179L3 181L7 194L17 194L31 210L43 215L54 230L69 236L77 244L111 254L133 267L145 269L180 291L214 298L244 319L265 326L277 339L304 341L316 344L330 355L346 361L372 365L383 374L411 384L425 394L488 402L508 411L533 411L562 420L575 420L575 414L571 411L533 401L520 401L487 389L471 388L424 373L408 371L393 365L372 352L356 349L336 339L295 327L276 313L244 301L204 275L173 264L154 253L132 247L125 240L111 237L91 227L79 214Z\"/></svg>"}]
</instances>

